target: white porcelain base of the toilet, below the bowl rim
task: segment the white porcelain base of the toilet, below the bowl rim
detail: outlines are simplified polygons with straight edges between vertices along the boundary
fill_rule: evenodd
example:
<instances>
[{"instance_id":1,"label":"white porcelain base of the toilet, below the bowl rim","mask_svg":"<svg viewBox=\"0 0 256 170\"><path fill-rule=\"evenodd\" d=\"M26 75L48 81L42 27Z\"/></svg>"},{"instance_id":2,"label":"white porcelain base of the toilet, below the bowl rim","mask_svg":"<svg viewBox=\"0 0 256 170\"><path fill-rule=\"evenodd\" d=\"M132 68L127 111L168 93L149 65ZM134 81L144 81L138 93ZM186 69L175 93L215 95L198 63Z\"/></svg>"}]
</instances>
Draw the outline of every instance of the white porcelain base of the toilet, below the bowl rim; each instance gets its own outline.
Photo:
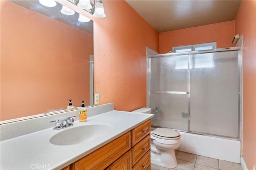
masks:
<instances>
[{"instance_id":1,"label":"white porcelain base of the toilet, below the bowl rim","mask_svg":"<svg viewBox=\"0 0 256 170\"><path fill-rule=\"evenodd\" d=\"M175 168L178 166L174 150L162 150L161 153L151 151L151 164L164 168Z\"/></svg>"}]
</instances>

